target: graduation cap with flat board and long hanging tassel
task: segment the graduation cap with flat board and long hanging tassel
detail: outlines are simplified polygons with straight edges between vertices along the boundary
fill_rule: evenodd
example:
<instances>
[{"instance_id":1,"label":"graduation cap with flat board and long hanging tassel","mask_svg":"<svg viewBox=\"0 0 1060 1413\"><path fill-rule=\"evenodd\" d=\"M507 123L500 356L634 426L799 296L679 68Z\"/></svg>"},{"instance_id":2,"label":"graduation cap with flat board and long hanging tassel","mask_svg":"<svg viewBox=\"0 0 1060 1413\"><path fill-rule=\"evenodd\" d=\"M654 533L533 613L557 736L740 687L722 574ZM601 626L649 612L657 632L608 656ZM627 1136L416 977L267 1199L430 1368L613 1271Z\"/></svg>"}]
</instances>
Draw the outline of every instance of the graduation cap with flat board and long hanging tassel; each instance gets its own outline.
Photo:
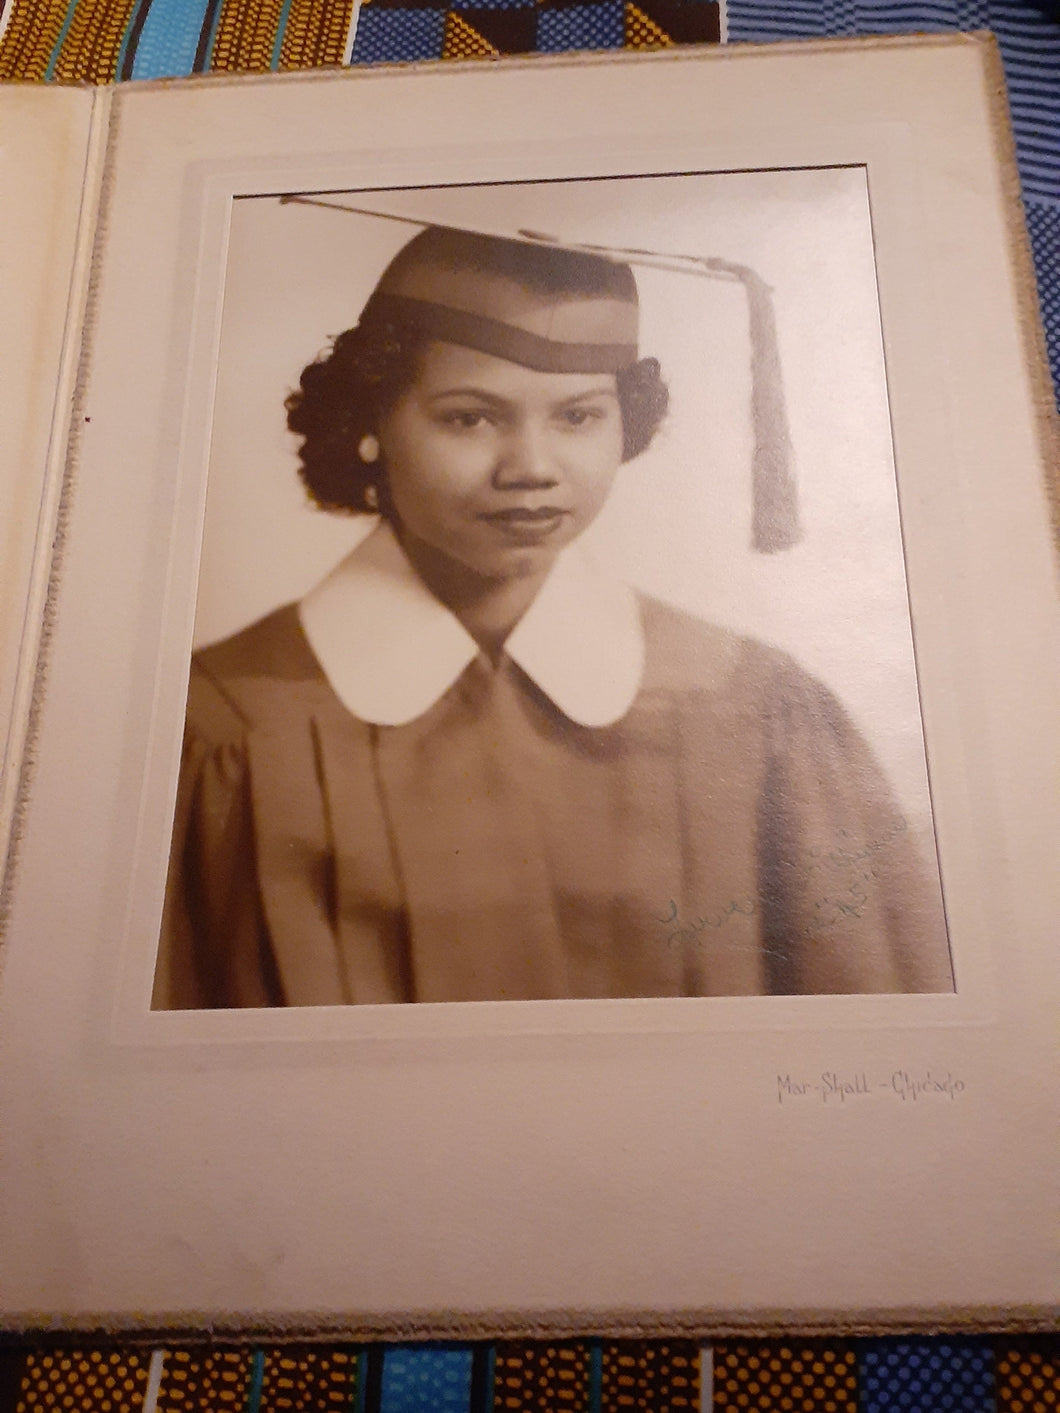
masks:
<instances>
[{"instance_id":1,"label":"graduation cap with flat board and long hanging tassel","mask_svg":"<svg viewBox=\"0 0 1060 1413\"><path fill-rule=\"evenodd\" d=\"M502 236L319 196L281 201L418 227L380 276L362 322L407 325L543 372L618 373L637 362L633 266L738 281L750 328L752 544L772 554L801 538L772 291L750 266L534 230Z\"/></svg>"}]
</instances>

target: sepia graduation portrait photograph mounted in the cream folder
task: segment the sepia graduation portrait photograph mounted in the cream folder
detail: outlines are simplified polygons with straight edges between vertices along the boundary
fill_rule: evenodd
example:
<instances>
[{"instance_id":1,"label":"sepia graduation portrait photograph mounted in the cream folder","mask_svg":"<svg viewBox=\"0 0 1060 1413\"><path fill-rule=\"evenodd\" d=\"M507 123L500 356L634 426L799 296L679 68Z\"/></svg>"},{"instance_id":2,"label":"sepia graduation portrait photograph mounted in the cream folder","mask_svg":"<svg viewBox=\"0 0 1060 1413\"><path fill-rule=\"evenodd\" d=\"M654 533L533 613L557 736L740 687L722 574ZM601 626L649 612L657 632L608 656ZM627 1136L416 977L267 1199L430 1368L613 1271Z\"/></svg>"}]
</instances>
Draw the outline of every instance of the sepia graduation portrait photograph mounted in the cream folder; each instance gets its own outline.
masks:
<instances>
[{"instance_id":1,"label":"sepia graduation portrait photograph mounted in the cream folder","mask_svg":"<svg viewBox=\"0 0 1060 1413\"><path fill-rule=\"evenodd\" d=\"M236 199L153 1007L948 991L864 168Z\"/></svg>"}]
</instances>

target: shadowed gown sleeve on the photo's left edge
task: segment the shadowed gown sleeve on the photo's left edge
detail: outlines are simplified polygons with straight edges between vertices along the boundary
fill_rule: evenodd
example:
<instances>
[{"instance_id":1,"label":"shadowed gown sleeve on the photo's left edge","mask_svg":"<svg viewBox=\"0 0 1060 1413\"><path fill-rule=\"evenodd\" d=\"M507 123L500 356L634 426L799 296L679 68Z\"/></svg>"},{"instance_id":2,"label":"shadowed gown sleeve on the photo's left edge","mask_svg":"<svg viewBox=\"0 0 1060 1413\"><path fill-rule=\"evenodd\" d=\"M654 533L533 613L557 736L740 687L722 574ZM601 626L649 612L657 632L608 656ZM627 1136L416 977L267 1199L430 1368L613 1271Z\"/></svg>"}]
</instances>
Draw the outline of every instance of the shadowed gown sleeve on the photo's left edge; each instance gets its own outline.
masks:
<instances>
[{"instance_id":1,"label":"shadowed gown sleeve on the photo's left edge","mask_svg":"<svg viewBox=\"0 0 1060 1413\"><path fill-rule=\"evenodd\" d=\"M243 723L192 664L151 1007L281 1003L257 883Z\"/></svg>"}]
</instances>

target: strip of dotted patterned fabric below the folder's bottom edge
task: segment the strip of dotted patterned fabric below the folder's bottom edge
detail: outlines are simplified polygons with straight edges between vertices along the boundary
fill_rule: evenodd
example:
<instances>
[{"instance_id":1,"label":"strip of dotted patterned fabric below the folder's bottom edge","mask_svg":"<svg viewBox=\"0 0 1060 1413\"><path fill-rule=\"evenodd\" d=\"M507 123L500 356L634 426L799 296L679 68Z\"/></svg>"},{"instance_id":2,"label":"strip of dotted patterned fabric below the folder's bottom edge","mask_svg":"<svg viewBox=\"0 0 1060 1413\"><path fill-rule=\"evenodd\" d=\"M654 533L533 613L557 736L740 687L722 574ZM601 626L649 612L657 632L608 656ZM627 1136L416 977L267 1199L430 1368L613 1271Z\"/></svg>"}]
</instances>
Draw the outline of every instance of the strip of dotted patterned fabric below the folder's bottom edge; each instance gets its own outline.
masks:
<instances>
[{"instance_id":1,"label":"strip of dotted patterned fabric below the folder's bottom edge","mask_svg":"<svg viewBox=\"0 0 1060 1413\"><path fill-rule=\"evenodd\" d=\"M11 1349L0 1413L1050 1413L1060 1347L1022 1340L536 1341Z\"/></svg>"}]
</instances>

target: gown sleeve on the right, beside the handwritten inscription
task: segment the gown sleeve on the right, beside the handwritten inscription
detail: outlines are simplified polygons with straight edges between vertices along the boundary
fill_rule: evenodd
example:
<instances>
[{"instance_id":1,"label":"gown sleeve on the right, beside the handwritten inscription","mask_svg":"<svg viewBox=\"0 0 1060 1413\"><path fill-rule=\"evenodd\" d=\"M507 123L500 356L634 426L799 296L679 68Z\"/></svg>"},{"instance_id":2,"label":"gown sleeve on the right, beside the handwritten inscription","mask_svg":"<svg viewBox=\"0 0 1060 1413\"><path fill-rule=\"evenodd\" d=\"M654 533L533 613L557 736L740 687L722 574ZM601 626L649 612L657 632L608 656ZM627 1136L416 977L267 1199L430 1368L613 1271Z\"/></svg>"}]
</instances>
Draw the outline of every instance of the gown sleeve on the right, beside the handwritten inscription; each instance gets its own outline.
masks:
<instances>
[{"instance_id":1,"label":"gown sleeve on the right, beside the handwritten inscription","mask_svg":"<svg viewBox=\"0 0 1060 1413\"><path fill-rule=\"evenodd\" d=\"M937 873L869 746L790 660L776 688L758 825L769 989L953 991Z\"/></svg>"}]
</instances>

